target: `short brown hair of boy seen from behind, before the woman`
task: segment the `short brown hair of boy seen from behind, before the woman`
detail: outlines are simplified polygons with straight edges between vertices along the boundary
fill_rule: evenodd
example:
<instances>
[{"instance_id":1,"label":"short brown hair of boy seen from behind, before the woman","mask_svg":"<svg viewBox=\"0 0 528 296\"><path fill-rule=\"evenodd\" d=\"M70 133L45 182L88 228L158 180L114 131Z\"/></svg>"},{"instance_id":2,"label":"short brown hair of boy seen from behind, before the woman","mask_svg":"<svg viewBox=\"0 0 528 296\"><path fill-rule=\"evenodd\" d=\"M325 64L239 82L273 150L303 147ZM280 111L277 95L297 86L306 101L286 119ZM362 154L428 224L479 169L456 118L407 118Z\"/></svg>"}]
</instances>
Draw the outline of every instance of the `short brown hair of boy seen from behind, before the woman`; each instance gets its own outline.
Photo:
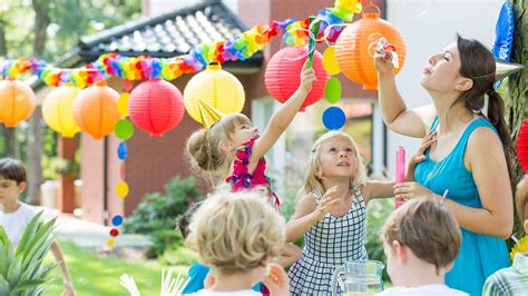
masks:
<instances>
[{"instance_id":1,"label":"short brown hair of boy seen from behind, before the woman","mask_svg":"<svg viewBox=\"0 0 528 296\"><path fill-rule=\"evenodd\" d=\"M429 198L407 201L389 216L381 229L389 246L397 240L414 255L439 268L457 258L461 234L454 216L440 203Z\"/></svg>"}]
</instances>

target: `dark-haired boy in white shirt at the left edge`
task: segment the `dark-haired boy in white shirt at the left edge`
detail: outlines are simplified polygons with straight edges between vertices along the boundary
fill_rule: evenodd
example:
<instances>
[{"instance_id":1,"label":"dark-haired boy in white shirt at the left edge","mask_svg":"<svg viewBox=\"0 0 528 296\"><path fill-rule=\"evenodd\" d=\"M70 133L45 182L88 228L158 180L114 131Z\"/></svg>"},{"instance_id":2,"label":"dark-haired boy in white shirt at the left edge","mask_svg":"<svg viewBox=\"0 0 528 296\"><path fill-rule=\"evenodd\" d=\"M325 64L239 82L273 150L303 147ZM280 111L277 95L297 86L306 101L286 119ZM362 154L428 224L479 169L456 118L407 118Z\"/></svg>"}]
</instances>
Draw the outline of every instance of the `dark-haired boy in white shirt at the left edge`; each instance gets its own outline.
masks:
<instances>
[{"instance_id":1,"label":"dark-haired boy in white shirt at the left edge","mask_svg":"<svg viewBox=\"0 0 528 296\"><path fill-rule=\"evenodd\" d=\"M17 247L29 221L37 215L37 210L19 200L26 190L26 168L22 162L11 158L0 159L0 226L3 227L13 247ZM59 244L51 244L51 253L60 265L65 293L75 295L68 267L66 266Z\"/></svg>"}]
</instances>

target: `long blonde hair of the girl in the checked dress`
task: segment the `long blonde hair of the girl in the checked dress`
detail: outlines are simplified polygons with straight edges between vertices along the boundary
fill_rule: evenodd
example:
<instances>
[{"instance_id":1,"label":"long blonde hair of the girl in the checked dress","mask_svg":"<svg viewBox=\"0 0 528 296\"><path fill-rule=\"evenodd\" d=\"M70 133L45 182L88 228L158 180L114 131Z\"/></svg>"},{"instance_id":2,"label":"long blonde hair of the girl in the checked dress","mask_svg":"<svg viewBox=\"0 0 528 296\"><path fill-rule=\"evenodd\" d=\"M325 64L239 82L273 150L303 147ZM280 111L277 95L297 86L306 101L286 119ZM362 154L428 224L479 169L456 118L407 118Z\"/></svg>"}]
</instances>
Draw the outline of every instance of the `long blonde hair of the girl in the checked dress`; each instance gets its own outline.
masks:
<instances>
[{"instance_id":1,"label":"long blonde hair of the girl in the checked dress","mask_svg":"<svg viewBox=\"0 0 528 296\"><path fill-rule=\"evenodd\" d=\"M325 141L333 138L338 138L338 137L343 137L343 138L349 139L352 146L354 147L356 170L355 170L354 177L351 180L351 186L359 187L365 182L366 180L365 168L363 165L363 160L361 158L360 149L358 145L355 144L354 139L352 139L352 137L350 137L349 134L345 134L339 130L332 130L321 136L312 146L312 150L310 154L310 161L306 168L306 176L304 177L304 186L301 189L303 194L310 194L313 190L317 190L319 193L324 193L324 186L321 182L321 179L315 174L315 170L317 169L317 167L321 167L321 160L320 160L321 146Z\"/></svg>"}]
</instances>

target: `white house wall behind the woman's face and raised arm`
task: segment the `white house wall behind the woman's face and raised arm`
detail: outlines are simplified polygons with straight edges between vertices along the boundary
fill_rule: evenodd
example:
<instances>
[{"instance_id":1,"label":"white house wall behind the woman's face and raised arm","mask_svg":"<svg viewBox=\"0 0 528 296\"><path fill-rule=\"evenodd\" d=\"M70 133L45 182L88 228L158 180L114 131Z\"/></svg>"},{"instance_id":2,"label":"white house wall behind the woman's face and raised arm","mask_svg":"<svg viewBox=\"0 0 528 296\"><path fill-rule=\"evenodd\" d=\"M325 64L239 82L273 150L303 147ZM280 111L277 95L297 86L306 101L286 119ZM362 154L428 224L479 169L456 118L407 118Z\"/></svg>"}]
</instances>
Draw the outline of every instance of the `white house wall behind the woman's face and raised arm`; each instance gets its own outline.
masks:
<instances>
[{"instance_id":1,"label":"white house wall behind the woman's face and raised arm","mask_svg":"<svg viewBox=\"0 0 528 296\"><path fill-rule=\"evenodd\" d=\"M430 3L421 17L403 8L415 2ZM454 41L456 33L473 38L489 48L495 40L495 26L503 0L389 0L387 17L405 39L405 65L397 77L400 93L408 107L419 107L431 100L419 83L422 69L431 55L442 52L443 48ZM423 6L422 7L427 7ZM395 150L405 147L408 158L414 152L419 140L389 131L388 168L393 176Z\"/></svg>"}]
</instances>

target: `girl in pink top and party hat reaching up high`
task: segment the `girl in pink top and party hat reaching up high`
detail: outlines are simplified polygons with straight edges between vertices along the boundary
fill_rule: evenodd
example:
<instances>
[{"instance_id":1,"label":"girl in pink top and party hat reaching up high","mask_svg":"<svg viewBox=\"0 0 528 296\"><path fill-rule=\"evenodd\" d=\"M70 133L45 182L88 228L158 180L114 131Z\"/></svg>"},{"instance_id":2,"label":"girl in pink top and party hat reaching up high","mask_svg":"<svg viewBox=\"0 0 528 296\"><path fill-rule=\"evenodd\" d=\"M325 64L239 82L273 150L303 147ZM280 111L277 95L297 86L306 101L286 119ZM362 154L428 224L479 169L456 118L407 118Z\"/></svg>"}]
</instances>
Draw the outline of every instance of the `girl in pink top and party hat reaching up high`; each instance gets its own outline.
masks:
<instances>
[{"instance_id":1,"label":"girl in pink top and party hat reaching up high","mask_svg":"<svg viewBox=\"0 0 528 296\"><path fill-rule=\"evenodd\" d=\"M278 197L273 193L265 176L264 155L287 128L312 88L315 72L306 65L307 60L301 72L299 89L273 115L262 135L258 135L258 130L252 126L246 116L242 114L226 116L209 129L201 129L190 135L187 140L187 152L192 165L211 176L215 184L225 179L231 184L233 191L265 189L270 204L280 211ZM300 249L289 244L281 257L281 265L290 266L299 259L299 256Z\"/></svg>"}]
</instances>

